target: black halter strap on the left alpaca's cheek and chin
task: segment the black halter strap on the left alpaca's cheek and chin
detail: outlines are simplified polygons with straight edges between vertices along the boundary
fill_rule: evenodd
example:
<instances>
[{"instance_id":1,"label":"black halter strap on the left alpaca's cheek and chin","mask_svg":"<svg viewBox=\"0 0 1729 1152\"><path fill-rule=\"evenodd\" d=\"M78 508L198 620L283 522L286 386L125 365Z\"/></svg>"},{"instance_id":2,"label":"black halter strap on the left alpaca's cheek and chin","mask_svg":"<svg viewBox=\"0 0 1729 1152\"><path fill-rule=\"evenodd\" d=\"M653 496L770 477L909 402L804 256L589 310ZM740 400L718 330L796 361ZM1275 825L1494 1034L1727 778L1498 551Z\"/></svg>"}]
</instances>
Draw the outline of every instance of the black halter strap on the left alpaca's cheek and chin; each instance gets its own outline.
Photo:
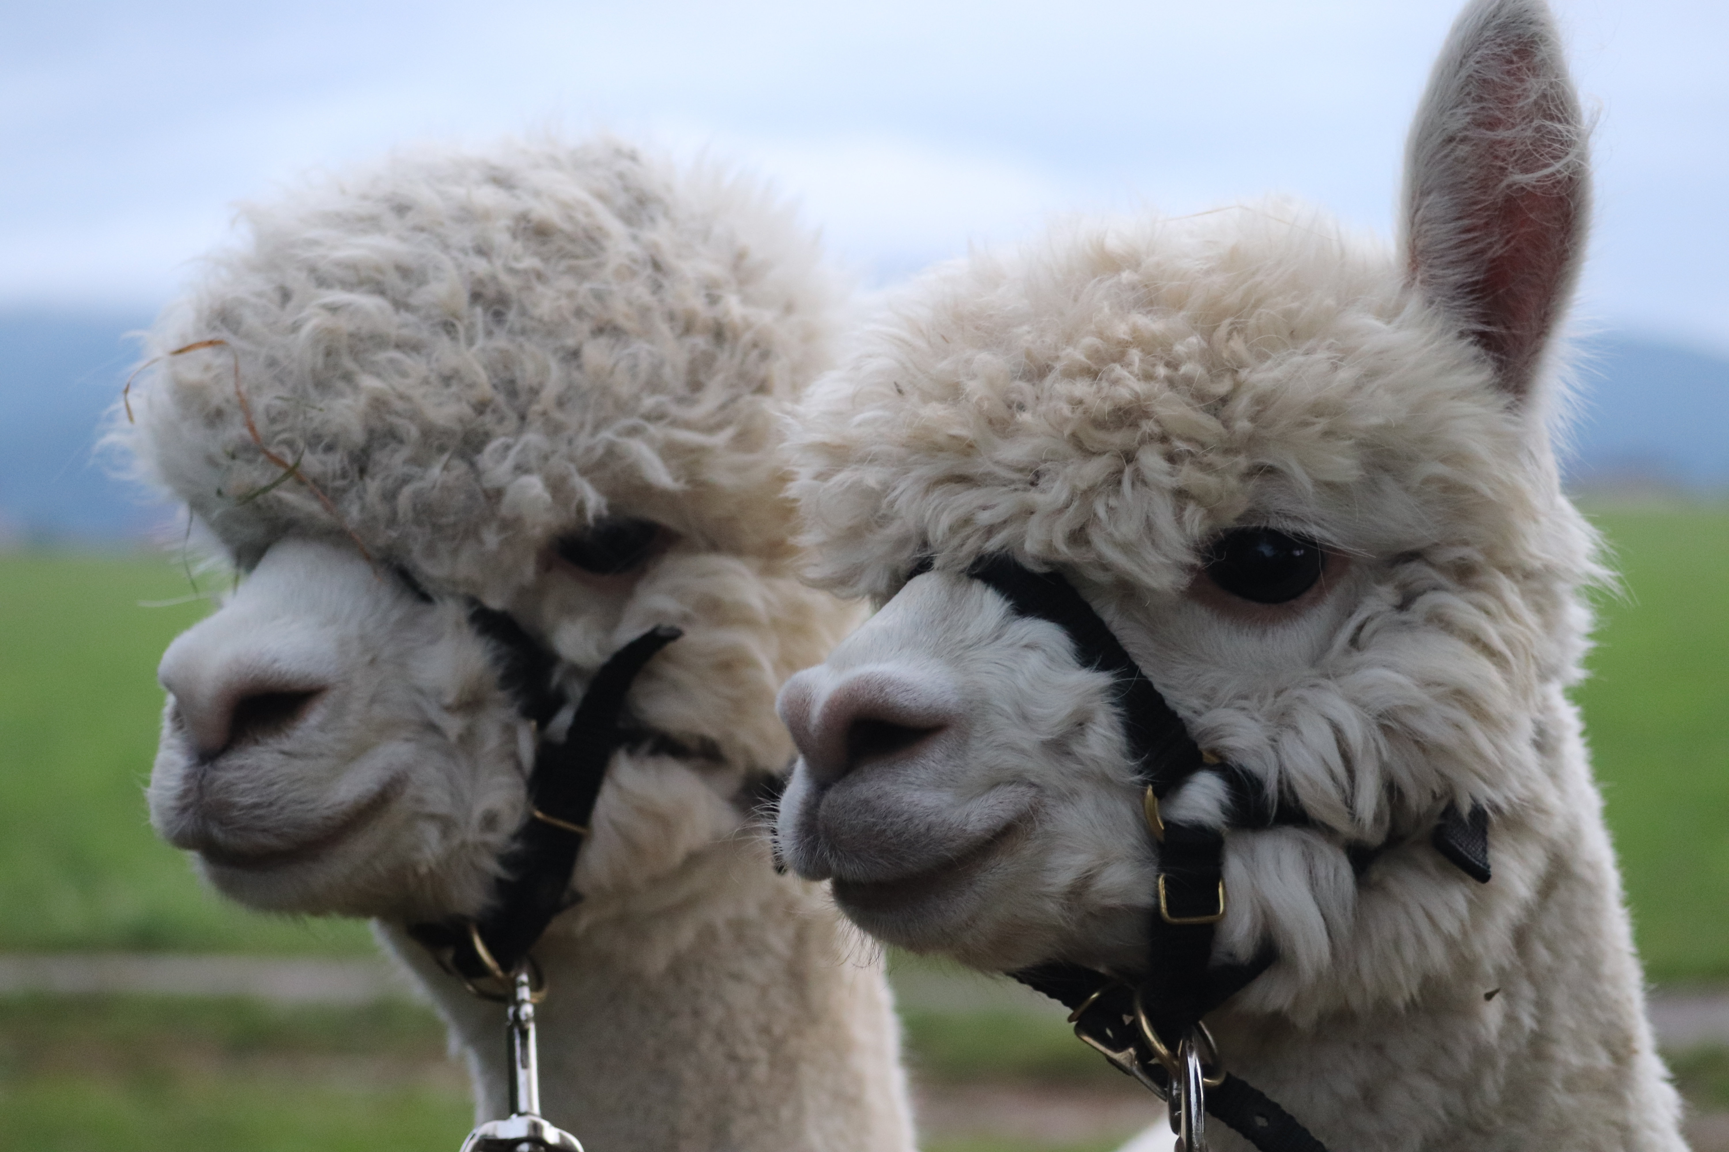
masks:
<instances>
[{"instance_id":1,"label":"black halter strap on the left alpaca's cheek and chin","mask_svg":"<svg viewBox=\"0 0 1729 1152\"><path fill-rule=\"evenodd\" d=\"M469 622L491 641L498 682L539 737L529 772L529 817L500 857L501 876L486 910L477 919L408 926L439 964L475 988L475 981L488 979L507 984L552 919L581 900L571 889L571 872L612 755L633 744L667 743L624 724L624 696L643 665L683 632L654 627L616 651L595 672L564 739L553 741L546 727L569 703L553 680L558 658L503 611L470 604Z\"/></svg>"}]
</instances>

